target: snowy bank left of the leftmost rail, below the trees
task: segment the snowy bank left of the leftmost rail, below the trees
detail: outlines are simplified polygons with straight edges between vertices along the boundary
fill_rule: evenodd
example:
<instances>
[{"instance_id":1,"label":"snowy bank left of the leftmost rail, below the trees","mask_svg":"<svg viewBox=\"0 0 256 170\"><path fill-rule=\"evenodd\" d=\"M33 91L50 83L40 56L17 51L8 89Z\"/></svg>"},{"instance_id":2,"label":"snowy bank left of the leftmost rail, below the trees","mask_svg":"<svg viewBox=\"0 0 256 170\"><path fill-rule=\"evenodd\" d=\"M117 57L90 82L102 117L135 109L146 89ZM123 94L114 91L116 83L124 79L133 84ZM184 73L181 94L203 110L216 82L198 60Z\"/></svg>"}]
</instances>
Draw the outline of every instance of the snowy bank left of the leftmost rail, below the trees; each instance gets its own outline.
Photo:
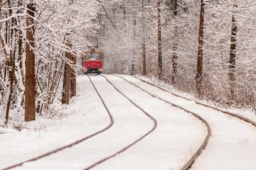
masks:
<instances>
[{"instance_id":1,"label":"snowy bank left of the leftmost rail, below the trees","mask_svg":"<svg viewBox=\"0 0 256 170\"><path fill-rule=\"evenodd\" d=\"M42 119L23 122L20 132L0 135L0 169L46 154L88 137L110 124L110 117L88 79L80 79L80 96L70 108L58 108L64 119ZM86 89L86 90L85 90ZM85 103L87 104L86 108ZM58 104L56 104L58 105ZM65 105L63 105L65 106ZM70 113L65 113L65 111Z\"/></svg>"}]
</instances>

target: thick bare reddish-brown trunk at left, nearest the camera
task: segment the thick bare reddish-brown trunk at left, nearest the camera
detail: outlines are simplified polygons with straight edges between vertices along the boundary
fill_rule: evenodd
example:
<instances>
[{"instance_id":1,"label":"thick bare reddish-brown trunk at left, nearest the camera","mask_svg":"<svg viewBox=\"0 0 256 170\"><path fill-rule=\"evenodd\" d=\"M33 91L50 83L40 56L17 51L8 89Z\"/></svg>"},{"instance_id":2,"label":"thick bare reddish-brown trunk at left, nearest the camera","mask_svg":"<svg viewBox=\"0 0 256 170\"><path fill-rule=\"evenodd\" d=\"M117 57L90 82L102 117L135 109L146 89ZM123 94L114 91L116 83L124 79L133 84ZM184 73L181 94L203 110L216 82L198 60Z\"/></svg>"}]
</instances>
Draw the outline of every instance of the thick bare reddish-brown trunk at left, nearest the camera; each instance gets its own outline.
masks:
<instances>
[{"instance_id":1,"label":"thick bare reddish-brown trunk at left, nearest the camera","mask_svg":"<svg viewBox=\"0 0 256 170\"><path fill-rule=\"evenodd\" d=\"M36 119L35 111L35 28L33 26L36 7L33 2L27 4L27 42L26 42L26 77L25 77L25 121ZM31 16L31 17L30 17Z\"/></svg>"}]
</instances>

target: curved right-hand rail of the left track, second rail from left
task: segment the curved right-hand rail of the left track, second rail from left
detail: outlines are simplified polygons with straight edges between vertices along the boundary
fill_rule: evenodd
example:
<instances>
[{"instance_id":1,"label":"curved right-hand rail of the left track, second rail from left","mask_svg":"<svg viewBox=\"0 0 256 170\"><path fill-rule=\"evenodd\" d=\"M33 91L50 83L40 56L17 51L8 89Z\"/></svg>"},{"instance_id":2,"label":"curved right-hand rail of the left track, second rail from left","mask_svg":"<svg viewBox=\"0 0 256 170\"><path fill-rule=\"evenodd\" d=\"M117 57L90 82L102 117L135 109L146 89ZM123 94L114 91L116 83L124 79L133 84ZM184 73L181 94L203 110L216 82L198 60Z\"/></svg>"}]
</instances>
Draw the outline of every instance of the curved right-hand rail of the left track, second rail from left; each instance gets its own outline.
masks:
<instances>
[{"instance_id":1,"label":"curved right-hand rail of the left track, second rail from left","mask_svg":"<svg viewBox=\"0 0 256 170\"><path fill-rule=\"evenodd\" d=\"M126 95L124 95L124 93L122 93L121 91L119 91L117 89L116 86L114 86L114 84L112 84L105 76L101 75L102 77L104 77L121 95L123 95L124 97L126 97L126 99L128 99L133 105L135 105L137 108L139 108L139 110L141 110L143 113L145 113L150 119L152 119L154 121L154 127L148 131L145 135L143 135L142 137L140 137L139 139L137 139L136 141L134 141L132 144L126 146L125 148L119 150L118 152L116 152L115 154L113 155L110 155L109 157L106 157L96 163L94 163L93 165L89 166L88 168L85 168L84 170L89 170L91 168L93 168L94 166L97 166L99 165L100 163L112 158L112 157L115 157L116 155L120 154L121 152L124 152L125 150L127 150L128 148L130 148L131 146L133 146L134 144L136 144L138 141L140 141L141 139L143 139L144 137L146 137L147 135L149 135L151 132L153 132L153 130L155 130L155 128L157 127L157 121L151 116L149 115L145 110L143 110L141 107L139 107L137 104L135 104L134 102L132 102L131 99L129 99Z\"/></svg>"}]
</instances>

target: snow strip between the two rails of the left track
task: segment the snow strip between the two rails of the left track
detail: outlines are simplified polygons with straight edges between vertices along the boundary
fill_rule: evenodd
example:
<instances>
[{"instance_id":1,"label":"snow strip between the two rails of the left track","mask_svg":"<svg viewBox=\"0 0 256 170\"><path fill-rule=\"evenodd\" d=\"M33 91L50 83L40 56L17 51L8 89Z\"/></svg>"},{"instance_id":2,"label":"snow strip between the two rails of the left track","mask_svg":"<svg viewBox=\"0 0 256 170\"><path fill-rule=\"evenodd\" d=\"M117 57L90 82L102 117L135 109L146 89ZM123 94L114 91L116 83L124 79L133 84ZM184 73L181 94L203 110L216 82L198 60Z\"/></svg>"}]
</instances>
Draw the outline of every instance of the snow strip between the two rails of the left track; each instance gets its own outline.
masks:
<instances>
[{"instance_id":1,"label":"snow strip between the two rails of the left track","mask_svg":"<svg viewBox=\"0 0 256 170\"><path fill-rule=\"evenodd\" d=\"M87 76L84 77L88 79ZM36 167L40 167L41 169L50 168L52 170L84 169L115 154L153 128L154 122L118 93L106 79L103 77L99 79L99 77L95 76L91 78L110 110L114 124L102 134L49 157L24 163L24 165L16 169L34 170ZM90 84L89 79L86 84ZM97 94L95 93L94 95ZM86 106L86 103L84 106ZM97 108L95 112L97 112Z\"/></svg>"}]
</instances>

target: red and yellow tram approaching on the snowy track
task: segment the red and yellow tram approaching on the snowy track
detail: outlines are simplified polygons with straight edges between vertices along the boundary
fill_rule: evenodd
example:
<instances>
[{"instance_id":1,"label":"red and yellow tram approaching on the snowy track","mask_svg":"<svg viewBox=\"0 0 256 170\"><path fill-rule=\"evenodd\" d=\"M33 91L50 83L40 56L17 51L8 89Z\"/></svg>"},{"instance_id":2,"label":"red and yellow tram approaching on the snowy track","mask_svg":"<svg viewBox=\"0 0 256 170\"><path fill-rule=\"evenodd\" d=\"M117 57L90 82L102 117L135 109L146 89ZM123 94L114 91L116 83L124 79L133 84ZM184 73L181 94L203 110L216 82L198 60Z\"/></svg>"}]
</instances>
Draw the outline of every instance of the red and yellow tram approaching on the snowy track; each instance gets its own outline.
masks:
<instances>
[{"instance_id":1,"label":"red and yellow tram approaching on the snowy track","mask_svg":"<svg viewBox=\"0 0 256 170\"><path fill-rule=\"evenodd\" d=\"M97 73L103 71L103 51L101 49L88 49L81 55L83 73Z\"/></svg>"}]
</instances>

